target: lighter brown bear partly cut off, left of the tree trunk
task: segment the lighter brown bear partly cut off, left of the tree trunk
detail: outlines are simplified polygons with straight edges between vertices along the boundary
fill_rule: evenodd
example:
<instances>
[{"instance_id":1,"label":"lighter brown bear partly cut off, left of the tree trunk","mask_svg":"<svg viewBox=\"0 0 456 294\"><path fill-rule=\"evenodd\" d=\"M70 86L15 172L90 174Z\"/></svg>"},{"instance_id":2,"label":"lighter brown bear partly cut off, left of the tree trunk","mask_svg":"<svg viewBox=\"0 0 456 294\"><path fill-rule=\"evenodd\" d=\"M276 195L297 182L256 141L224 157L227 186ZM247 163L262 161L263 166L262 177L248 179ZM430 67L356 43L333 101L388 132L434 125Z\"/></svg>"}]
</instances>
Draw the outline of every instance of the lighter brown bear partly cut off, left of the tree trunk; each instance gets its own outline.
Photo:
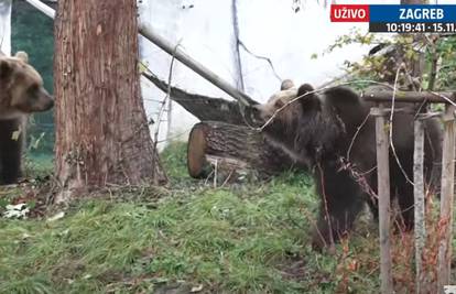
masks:
<instances>
[{"instance_id":1,"label":"lighter brown bear partly cut off, left of the tree trunk","mask_svg":"<svg viewBox=\"0 0 456 294\"><path fill-rule=\"evenodd\" d=\"M28 116L51 109L54 100L24 52L0 56L0 184L11 184L21 176Z\"/></svg>"}]
</instances>

